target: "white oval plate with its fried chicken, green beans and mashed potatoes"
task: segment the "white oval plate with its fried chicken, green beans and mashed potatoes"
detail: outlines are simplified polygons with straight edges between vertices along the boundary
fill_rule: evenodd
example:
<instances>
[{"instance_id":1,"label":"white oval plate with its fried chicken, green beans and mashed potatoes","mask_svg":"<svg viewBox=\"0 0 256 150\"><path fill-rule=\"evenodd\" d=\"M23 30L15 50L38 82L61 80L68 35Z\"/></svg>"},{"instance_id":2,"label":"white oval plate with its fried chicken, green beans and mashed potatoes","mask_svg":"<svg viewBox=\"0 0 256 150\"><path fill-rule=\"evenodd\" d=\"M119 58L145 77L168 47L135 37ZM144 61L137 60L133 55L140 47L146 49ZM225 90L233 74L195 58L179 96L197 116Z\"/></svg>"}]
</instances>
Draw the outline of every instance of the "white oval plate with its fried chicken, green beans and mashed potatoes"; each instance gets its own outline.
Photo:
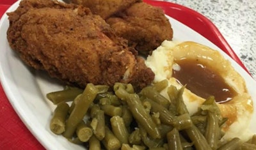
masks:
<instances>
[{"instance_id":1,"label":"white oval plate with its fried chicken, green beans and mashed potatoes","mask_svg":"<svg viewBox=\"0 0 256 150\"><path fill-rule=\"evenodd\" d=\"M73 2L79 3L79 1ZM120 7L116 9L120 9L122 12L116 12L115 9L108 12L99 11L99 7L93 3L89 10L76 4L51 0L18 1L8 9L8 15L4 14L0 22L0 33L7 33L7 36L0 37L0 43L3 45L3 52L0 56L1 84L8 100L24 124L46 149L84 149L90 145L89 140L95 139L93 137L96 137L96 141L102 141L102 146L108 147L108 144L106 144L108 138L105 138L105 135L100 137L96 133L97 123L100 120L94 118L102 110L105 110L104 113L106 113L104 117L109 118L111 116L111 113L107 114L109 106L103 104L108 102L98 100L96 103L95 101L93 102L95 107L91 105L91 102L83 110L79 110L78 107L81 105L77 105L83 99L79 95L84 96L84 93L86 93L80 92L81 89L90 91L89 85L92 86L91 89L98 90L95 94L96 97L92 98L95 100L99 98L99 95L102 96L104 95L102 93L106 92L106 90L99 92L102 85L104 85L104 87L108 86L111 89L112 96L118 98L120 104L116 105L119 107L121 103L122 105L125 104L132 113L132 125L130 124L132 128L127 130L127 134L130 135L133 131L140 131L141 136L145 135L144 139L141 140L142 142L131 142L129 140L127 143L120 143L121 140L118 139L116 141L119 141L119 145L117 144L117 147L113 149L120 149L121 147L127 149L131 148L132 145L135 146L141 143L141 146L138 146L141 149L153 148L156 145L160 147L171 146L172 143L168 139L172 139L172 135L167 136L166 139L166 135L163 135L163 130L160 130L159 126L163 128L168 124L172 127L172 130L168 128L170 132L180 130L186 132L190 137L189 133L191 131L198 131L197 129L192 130L191 126L195 127L196 121L192 118L197 117L199 112L200 118L203 119L208 116L202 114L212 114L213 112L220 112L221 114L213 113L215 116L218 115L217 120L221 122L221 126L218 127L218 140L211 143L207 140L212 139L212 137L204 136L209 133L202 134L201 132L204 131L198 132L199 136L203 135L203 137L200 137L200 142L207 141L204 145L206 148L216 148L220 143L234 138L235 142L233 140L232 144L244 146L241 143L250 139L256 133L255 128L253 128L256 121L256 114L253 111L255 110L253 101L256 100L255 80L236 62L237 60L234 61L236 58L232 59L223 52L219 48L220 45L218 45L219 47L214 45L182 22L164 15L163 11L158 8L152 8L152 6L142 2L133 3L120 4ZM129 9L125 10L124 8L127 6L129 6ZM111 6L111 8L115 8L115 6ZM145 11L147 12L146 15ZM93 13L98 13L98 15L93 15ZM115 15L111 15L113 13ZM141 40L141 37L143 37L143 40ZM228 52L228 54L231 53L232 51ZM185 62L186 65L182 66L184 60L189 63ZM189 70L187 70L187 72L179 75L180 70L186 68L188 64L197 64L196 66L200 67L195 69L195 66L189 66L187 68L193 68L197 71L190 71L189 74ZM204 73L200 74L200 72ZM184 74L189 76L184 76ZM197 80L194 78L196 75L199 78ZM182 77L193 80L189 83L188 80L184 81ZM208 85L206 89L214 89L211 86L213 84L213 87L217 87L214 84L216 78L222 80L221 83L225 87L221 88L221 91L217 91L217 94L210 92L210 94L204 95L193 90L193 87L195 87L193 83L199 83L198 80L201 79ZM210 82L211 80L214 82ZM120 82L122 84L116 84ZM129 83L134 87L130 91L131 85ZM167 86L157 86L160 85L157 83L164 83ZM56 127L54 124L52 127L52 116L58 114L56 108L59 104L66 104L66 101L52 102L54 98L51 98L49 93L63 91L63 88L65 88L64 91L77 89L65 87L67 85L79 87L79 94L76 94L76 98L69 98L76 100L69 101L68 106L64 106L68 107L68 111L71 112L66 111L70 113L65 116L67 120L64 122L67 124L60 131L57 125ZM95 85L101 86L95 87ZM179 98L179 100L182 99L179 104L186 104L186 107L182 107L183 109L175 110L174 107L170 107L172 105L169 102L172 96L168 94L167 88L170 85L179 90L183 89L182 92L179 92L183 93L182 98ZM226 87L227 85L228 87ZM168 105L168 110L175 110L176 114L171 118L174 122L170 121L169 123L163 117L160 117L163 114L160 113L161 110L157 110L158 107L155 107L159 105L157 100L152 101L154 98L148 97L146 90L140 90L145 87L154 87L154 90L161 89L161 94L160 90L158 92L161 98L163 101L168 100L169 102L163 102L163 104L158 101L161 104L159 108L164 110ZM122 89L125 89L125 91L122 91ZM204 89L204 87L201 87L201 89ZM128 94L124 96L124 93L118 94L118 92ZM214 92L216 93L216 91ZM218 97L219 93L224 93L224 98ZM219 101L211 105L214 111L206 106L208 102L204 103L204 101L214 100L212 96ZM134 99L129 101L131 97L134 97ZM144 103L142 110L142 107L136 107L141 105L141 101L137 101L138 105L131 104L138 97L140 99L144 98L143 101L141 100ZM70 109L73 103L74 108ZM116 105L111 108L116 108ZM173 105L177 105L177 103ZM99 106L100 110L97 110L96 106ZM215 111L216 108L218 108L218 111ZM137 109L140 110L136 112ZM85 115L87 110L90 111L90 114ZM95 113L92 113L93 110L95 110ZM72 116L76 116L74 115L75 112L83 112L82 120L84 116L87 116L87 121L70 122ZM140 118L136 113L145 114L147 119L143 119L146 118L145 116ZM118 137L118 131L114 131L116 128L113 128L111 120L118 120L120 116L122 117L122 113L111 116L111 119L106 120L106 124L109 124L105 128L106 133L113 132L113 134L116 134L114 137ZM182 127L175 123L181 117L186 117L183 121L188 123ZM79 134L75 133L76 129L68 127L74 123L77 128L81 121L89 126L90 131L92 131L92 135L86 142L81 142ZM114 123L118 123L118 121L114 121ZM207 122L204 123L204 126L210 126L207 125ZM177 130L173 130L173 127ZM196 128L199 127L196 126ZM225 135L220 135L221 131L225 131ZM178 135L180 134L178 132ZM216 134L214 133L214 135ZM193 136L195 137L195 135ZM237 140L236 137L241 140ZM152 143L157 142L157 144L151 145L150 141ZM196 139L190 139L186 144L188 144L186 146L200 149L200 144Z\"/></svg>"}]
</instances>

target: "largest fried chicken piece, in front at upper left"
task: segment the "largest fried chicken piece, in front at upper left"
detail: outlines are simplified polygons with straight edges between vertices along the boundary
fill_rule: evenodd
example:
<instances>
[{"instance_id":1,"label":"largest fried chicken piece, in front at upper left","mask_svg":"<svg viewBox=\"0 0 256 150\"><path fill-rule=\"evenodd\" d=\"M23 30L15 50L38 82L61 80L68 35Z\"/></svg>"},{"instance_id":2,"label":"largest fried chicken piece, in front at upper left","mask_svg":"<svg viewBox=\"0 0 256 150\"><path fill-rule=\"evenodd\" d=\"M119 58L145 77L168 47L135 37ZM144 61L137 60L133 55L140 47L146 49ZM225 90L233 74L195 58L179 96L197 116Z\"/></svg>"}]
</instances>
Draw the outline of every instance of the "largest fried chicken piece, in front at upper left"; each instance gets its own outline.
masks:
<instances>
[{"instance_id":1,"label":"largest fried chicken piece, in front at upper left","mask_svg":"<svg viewBox=\"0 0 256 150\"><path fill-rule=\"evenodd\" d=\"M8 13L7 38L29 66L68 84L144 87L154 79L127 40L88 8L51 0L23 0Z\"/></svg>"}]
</instances>

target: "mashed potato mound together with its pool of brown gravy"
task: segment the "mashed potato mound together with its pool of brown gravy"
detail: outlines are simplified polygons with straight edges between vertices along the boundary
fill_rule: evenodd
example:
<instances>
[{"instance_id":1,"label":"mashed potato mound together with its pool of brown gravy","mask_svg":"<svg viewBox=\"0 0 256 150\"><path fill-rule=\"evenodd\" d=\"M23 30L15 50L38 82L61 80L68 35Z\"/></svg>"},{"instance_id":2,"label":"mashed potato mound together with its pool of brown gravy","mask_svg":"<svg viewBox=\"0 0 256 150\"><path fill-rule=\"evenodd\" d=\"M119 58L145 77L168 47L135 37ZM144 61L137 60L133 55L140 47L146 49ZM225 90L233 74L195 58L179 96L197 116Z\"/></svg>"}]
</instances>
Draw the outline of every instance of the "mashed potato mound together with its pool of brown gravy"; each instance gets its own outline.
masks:
<instances>
[{"instance_id":1,"label":"mashed potato mound together with its pool of brown gravy","mask_svg":"<svg viewBox=\"0 0 256 150\"><path fill-rule=\"evenodd\" d=\"M168 79L168 84L178 89L186 84L183 98L190 114L194 114L207 97L214 96L221 115L227 117L222 128L224 139L246 140L252 135L248 131L253 114L252 98L243 77L220 52L192 41L164 41L145 63L156 74L154 82ZM161 94L168 98L166 89Z\"/></svg>"}]
</instances>

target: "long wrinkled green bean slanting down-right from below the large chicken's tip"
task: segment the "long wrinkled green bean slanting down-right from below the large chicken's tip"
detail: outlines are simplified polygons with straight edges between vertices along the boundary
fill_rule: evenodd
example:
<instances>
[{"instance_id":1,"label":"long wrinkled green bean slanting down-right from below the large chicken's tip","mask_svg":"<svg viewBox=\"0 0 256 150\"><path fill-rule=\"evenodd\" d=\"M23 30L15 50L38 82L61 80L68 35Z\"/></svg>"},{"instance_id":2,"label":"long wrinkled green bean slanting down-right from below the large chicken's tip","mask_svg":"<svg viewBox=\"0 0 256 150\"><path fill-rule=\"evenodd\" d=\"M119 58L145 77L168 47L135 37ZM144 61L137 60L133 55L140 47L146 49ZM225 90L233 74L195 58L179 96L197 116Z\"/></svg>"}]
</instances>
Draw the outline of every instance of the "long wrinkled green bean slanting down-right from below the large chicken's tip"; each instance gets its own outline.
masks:
<instances>
[{"instance_id":1,"label":"long wrinkled green bean slanting down-right from below the large chicken's tip","mask_svg":"<svg viewBox=\"0 0 256 150\"><path fill-rule=\"evenodd\" d=\"M152 120L152 117L144 109L138 94L129 94L123 88L116 88L115 93L119 98L124 99L127 102L129 110L131 110L136 121L140 123L145 130L147 130L147 133L151 137L154 139L161 138L156 124Z\"/></svg>"}]
</instances>

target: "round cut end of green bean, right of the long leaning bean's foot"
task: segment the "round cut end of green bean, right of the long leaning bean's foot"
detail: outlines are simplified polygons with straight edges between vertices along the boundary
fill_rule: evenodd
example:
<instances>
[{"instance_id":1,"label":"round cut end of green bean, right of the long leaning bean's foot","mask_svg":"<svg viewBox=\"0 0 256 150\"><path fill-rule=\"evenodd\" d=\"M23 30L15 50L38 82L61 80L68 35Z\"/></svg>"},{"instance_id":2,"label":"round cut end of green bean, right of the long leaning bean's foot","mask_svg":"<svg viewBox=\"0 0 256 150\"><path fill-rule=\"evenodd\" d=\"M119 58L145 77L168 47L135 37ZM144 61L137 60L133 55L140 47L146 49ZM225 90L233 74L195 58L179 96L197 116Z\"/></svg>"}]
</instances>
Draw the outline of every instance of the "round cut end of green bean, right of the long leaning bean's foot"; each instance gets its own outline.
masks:
<instances>
[{"instance_id":1,"label":"round cut end of green bean, right of the long leaning bean's foot","mask_svg":"<svg viewBox=\"0 0 256 150\"><path fill-rule=\"evenodd\" d=\"M93 135L92 128L86 126L84 121L81 121L76 128L76 135L82 142L87 142Z\"/></svg>"}]
</instances>

